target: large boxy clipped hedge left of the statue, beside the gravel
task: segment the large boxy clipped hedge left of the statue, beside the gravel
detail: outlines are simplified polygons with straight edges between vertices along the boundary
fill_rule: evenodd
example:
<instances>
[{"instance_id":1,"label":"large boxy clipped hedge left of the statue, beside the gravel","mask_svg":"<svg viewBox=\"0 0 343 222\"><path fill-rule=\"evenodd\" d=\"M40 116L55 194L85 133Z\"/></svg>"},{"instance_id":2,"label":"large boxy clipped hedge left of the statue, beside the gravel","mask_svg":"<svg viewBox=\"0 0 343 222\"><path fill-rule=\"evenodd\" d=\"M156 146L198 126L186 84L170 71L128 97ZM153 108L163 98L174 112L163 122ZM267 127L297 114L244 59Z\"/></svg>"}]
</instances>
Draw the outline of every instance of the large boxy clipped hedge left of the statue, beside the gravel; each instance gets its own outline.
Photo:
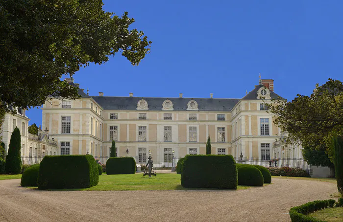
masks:
<instances>
[{"instance_id":1,"label":"large boxy clipped hedge left of the statue, beside the gravel","mask_svg":"<svg viewBox=\"0 0 343 222\"><path fill-rule=\"evenodd\" d=\"M98 164L92 155L46 155L38 176L38 189L89 188L98 185Z\"/></svg>"}]
</instances>

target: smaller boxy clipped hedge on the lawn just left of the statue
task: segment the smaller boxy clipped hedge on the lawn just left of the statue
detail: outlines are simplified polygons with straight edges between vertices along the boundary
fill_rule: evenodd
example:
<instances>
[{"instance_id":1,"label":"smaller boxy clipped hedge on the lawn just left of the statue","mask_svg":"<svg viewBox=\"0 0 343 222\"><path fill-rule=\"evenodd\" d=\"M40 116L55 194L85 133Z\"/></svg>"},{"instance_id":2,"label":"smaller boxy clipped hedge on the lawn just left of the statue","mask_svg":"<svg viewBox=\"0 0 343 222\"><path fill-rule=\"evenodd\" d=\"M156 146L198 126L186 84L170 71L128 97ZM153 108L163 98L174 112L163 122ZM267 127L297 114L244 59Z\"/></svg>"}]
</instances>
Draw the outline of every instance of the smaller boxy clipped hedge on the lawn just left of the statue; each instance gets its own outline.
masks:
<instances>
[{"instance_id":1,"label":"smaller boxy clipped hedge on the lawn just left of the statue","mask_svg":"<svg viewBox=\"0 0 343 222\"><path fill-rule=\"evenodd\" d=\"M133 157L111 157L106 162L106 174L134 174L136 161Z\"/></svg>"}]
</instances>

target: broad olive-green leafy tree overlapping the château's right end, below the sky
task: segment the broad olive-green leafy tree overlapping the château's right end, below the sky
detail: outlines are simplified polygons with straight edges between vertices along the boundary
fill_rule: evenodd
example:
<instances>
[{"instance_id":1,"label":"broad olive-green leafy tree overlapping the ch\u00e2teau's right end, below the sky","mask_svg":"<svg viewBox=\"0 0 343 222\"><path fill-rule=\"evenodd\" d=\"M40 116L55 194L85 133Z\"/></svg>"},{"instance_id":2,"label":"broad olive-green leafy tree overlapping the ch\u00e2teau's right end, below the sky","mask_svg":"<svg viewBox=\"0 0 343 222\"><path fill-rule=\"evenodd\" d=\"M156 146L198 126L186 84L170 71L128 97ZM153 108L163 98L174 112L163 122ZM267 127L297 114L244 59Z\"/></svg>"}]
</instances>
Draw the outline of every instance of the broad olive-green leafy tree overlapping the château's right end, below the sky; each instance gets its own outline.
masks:
<instances>
[{"instance_id":1,"label":"broad olive-green leafy tree overlapping the ch\u00e2teau's right end, below the sky","mask_svg":"<svg viewBox=\"0 0 343 222\"><path fill-rule=\"evenodd\" d=\"M325 152L333 162L333 137L343 135L343 84L329 79L316 85L310 96L300 95L291 102L282 98L267 104L275 114L274 123L288 132L288 142Z\"/></svg>"}]
</instances>

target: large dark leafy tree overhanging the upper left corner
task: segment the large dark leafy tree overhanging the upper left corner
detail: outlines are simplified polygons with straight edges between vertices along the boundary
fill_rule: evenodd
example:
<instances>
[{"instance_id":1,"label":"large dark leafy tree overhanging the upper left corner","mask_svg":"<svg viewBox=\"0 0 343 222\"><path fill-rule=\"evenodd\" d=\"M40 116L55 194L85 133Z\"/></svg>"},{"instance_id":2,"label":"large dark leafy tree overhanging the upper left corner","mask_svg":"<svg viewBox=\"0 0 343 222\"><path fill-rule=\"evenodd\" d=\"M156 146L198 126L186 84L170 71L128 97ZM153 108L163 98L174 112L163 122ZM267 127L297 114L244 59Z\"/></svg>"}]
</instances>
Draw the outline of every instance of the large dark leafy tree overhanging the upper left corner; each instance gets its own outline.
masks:
<instances>
[{"instance_id":1,"label":"large dark leafy tree overhanging the upper left corner","mask_svg":"<svg viewBox=\"0 0 343 222\"><path fill-rule=\"evenodd\" d=\"M135 20L102 9L102 0L0 0L0 106L30 108L48 96L79 97L61 81L121 53L138 65L151 42ZM3 103L1 103L3 102Z\"/></svg>"}]
</instances>

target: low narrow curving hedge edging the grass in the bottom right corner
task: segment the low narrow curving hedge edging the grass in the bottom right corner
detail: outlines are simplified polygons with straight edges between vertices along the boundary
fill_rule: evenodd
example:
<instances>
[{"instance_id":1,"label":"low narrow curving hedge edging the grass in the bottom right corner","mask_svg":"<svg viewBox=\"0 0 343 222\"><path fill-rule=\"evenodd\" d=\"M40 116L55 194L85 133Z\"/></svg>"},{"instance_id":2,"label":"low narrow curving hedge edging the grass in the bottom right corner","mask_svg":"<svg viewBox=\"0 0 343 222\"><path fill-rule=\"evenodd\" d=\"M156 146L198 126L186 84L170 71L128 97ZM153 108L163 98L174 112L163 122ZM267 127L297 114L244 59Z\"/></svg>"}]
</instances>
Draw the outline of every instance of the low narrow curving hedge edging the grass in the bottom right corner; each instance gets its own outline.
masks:
<instances>
[{"instance_id":1,"label":"low narrow curving hedge edging the grass in the bottom right corner","mask_svg":"<svg viewBox=\"0 0 343 222\"><path fill-rule=\"evenodd\" d=\"M313 213L317 210L321 210L328 207L334 207L335 200L315 200L308 202L300 206L295 206L290 209L290 217L292 222L323 222L316 218L308 216L309 213ZM336 206L337 203L336 203Z\"/></svg>"}]
</instances>

